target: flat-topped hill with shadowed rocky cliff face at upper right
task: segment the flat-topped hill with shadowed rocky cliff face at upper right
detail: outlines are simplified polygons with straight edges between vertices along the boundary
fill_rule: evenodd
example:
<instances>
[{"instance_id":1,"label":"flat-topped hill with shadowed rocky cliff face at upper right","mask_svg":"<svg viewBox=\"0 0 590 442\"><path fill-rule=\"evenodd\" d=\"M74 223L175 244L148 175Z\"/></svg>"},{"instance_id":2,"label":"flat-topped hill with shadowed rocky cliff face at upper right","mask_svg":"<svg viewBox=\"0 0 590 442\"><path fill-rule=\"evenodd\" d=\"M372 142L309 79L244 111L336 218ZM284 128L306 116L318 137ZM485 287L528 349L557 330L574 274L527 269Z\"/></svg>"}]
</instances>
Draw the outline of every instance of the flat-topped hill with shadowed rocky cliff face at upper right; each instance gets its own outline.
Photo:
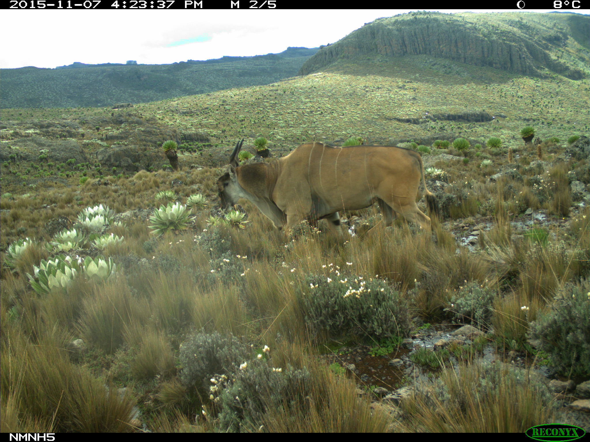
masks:
<instances>
[{"instance_id":1,"label":"flat-topped hill with shadowed rocky cliff face at upper right","mask_svg":"<svg viewBox=\"0 0 590 442\"><path fill-rule=\"evenodd\" d=\"M584 41L576 41L580 39L576 32L579 22L590 23L590 17L575 14L576 32L572 32L571 15L411 12L379 18L320 49L299 74L366 55L424 54L524 75L544 77L554 72L579 80L590 73L589 51Z\"/></svg>"}]
</instances>

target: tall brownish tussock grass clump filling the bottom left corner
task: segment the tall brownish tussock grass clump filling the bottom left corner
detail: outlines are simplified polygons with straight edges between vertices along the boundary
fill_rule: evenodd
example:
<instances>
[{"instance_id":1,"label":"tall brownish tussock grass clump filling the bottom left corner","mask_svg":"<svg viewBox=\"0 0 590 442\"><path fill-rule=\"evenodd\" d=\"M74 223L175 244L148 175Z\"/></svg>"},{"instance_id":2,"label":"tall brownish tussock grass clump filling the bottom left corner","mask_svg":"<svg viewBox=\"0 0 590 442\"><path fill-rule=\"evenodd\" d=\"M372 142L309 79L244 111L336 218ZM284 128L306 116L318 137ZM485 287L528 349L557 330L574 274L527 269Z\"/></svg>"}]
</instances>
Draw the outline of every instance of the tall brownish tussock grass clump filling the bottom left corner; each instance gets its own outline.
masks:
<instances>
[{"instance_id":1,"label":"tall brownish tussock grass clump filling the bottom left corner","mask_svg":"<svg viewBox=\"0 0 590 442\"><path fill-rule=\"evenodd\" d=\"M2 414L9 418L3 419L3 428L31 433L131 431L131 389L120 394L71 363L59 346L52 339L34 345L15 335L3 346Z\"/></svg>"}]
</instances>

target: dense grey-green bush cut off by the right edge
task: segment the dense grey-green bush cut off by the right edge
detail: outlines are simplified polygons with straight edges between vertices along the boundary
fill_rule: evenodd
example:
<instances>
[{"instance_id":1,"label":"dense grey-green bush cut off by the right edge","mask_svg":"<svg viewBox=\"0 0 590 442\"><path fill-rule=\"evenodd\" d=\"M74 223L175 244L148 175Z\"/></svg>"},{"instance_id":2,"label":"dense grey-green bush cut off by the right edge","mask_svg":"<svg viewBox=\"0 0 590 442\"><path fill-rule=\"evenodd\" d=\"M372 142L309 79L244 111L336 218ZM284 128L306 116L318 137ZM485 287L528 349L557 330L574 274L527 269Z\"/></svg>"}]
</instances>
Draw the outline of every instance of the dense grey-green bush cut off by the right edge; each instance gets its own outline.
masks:
<instances>
[{"instance_id":1,"label":"dense grey-green bush cut off by the right edge","mask_svg":"<svg viewBox=\"0 0 590 442\"><path fill-rule=\"evenodd\" d=\"M563 289L549 311L540 312L530 337L567 377L590 376L590 282Z\"/></svg>"}]
</instances>

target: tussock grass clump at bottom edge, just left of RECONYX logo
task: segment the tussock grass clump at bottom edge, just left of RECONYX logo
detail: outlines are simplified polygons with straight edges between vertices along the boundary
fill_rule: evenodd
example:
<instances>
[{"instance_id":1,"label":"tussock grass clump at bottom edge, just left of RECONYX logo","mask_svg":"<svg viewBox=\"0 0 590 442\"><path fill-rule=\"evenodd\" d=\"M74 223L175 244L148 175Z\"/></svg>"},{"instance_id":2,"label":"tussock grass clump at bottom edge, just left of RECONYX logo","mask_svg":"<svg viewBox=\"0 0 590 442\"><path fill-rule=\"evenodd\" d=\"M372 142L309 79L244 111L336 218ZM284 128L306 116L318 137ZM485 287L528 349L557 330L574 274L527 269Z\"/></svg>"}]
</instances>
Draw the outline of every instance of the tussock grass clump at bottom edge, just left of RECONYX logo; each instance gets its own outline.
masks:
<instances>
[{"instance_id":1,"label":"tussock grass clump at bottom edge, just left of RECONYX logo","mask_svg":"<svg viewBox=\"0 0 590 442\"><path fill-rule=\"evenodd\" d=\"M555 417L548 388L525 370L504 364L445 367L404 400L407 431L522 433Z\"/></svg>"}]
</instances>

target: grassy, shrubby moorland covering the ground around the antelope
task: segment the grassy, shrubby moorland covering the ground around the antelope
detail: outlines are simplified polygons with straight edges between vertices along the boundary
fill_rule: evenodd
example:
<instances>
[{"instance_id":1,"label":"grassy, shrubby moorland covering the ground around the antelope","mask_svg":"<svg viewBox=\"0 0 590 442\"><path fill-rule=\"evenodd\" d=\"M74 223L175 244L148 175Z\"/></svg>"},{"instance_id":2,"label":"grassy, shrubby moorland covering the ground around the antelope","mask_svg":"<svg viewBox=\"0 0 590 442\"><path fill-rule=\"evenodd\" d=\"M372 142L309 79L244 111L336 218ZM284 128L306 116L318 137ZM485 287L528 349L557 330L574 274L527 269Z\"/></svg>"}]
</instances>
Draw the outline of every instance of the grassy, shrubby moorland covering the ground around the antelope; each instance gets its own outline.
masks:
<instances>
[{"instance_id":1,"label":"grassy, shrubby moorland covering the ground around the antelope","mask_svg":"<svg viewBox=\"0 0 590 442\"><path fill-rule=\"evenodd\" d=\"M588 78L363 57L2 110L2 432L590 430ZM313 140L415 149L441 216L427 235L341 213L340 240L324 220L286 236L247 200L224 214L242 138L247 163Z\"/></svg>"}]
</instances>

